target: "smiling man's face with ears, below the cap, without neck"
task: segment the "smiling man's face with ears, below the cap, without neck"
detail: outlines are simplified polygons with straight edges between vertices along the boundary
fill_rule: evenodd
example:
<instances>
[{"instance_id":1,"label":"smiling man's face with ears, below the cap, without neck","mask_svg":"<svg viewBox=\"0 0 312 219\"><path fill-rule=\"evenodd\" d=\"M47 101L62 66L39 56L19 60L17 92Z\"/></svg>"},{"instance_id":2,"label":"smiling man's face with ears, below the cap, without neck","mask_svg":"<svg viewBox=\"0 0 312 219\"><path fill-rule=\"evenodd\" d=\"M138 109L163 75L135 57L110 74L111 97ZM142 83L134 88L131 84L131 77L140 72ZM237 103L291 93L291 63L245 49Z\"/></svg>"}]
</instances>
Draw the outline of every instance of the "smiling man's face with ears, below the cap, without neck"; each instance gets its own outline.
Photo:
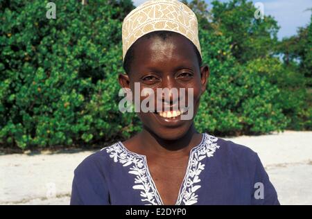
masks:
<instances>
[{"instance_id":1,"label":"smiling man's face with ears, below the cap, without neck","mask_svg":"<svg viewBox=\"0 0 312 219\"><path fill-rule=\"evenodd\" d=\"M135 46L134 56L129 75L119 77L119 82L123 87L129 87L134 95L138 95L135 94L135 82L139 82L141 90L144 88L153 90L156 112L138 113L144 128L162 139L179 139L193 124L200 96L205 91L209 77L208 67L199 67L193 44L182 35L173 35L166 41L159 37L140 40ZM177 95L171 92L168 96L157 95L157 88L175 88ZM193 97L193 116L184 120L179 114L188 112L184 112L185 109L181 109L180 105L181 101L184 101L186 107L191 107L189 95ZM146 96L140 97L140 101L145 98ZM157 109L157 101L162 110Z\"/></svg>"}]
</instances>

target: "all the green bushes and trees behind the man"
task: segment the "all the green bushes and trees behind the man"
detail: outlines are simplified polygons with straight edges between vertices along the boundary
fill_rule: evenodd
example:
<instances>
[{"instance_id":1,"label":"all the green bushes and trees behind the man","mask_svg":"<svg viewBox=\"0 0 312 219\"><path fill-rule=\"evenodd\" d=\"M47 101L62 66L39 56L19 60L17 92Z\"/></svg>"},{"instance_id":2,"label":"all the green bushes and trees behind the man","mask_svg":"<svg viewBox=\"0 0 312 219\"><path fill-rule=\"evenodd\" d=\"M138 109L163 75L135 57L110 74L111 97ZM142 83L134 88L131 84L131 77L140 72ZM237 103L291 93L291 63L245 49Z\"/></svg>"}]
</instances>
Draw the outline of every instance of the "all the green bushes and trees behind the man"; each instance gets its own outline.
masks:
<instances>
[{"instance_id":1,"label":"all the green bushes and trees behind the man","mask_svg":"<svg viewBox=\"0 0 312 219\"><path fill-rule=\"evenodd\" d=\"M0 145L92 146L140 130L118 109L121 25L132 1L0 0ZM311 22L277 40L273 17L246 0L186 2L211 77L196 127L220 136L311 130ZM311 17L312 19L312 17Z\"/></svg>"}]
</instances>

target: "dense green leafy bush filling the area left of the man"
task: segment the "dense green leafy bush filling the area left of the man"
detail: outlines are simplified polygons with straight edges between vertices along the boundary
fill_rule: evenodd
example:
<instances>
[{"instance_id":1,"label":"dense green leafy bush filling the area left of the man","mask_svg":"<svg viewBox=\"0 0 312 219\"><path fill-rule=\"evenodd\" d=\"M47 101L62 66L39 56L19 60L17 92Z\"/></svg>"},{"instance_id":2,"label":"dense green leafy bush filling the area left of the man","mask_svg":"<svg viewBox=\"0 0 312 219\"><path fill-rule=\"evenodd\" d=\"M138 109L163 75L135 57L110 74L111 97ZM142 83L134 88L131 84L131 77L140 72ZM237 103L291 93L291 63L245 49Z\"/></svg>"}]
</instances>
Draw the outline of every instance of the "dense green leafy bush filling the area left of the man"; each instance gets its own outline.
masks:
<instances>
[{"instance_id":1,"label":"dense green leafy bush filling the area left of the man","mask_svg":"<svg viewBox=\"0 0 312 219\"><path fill-rule=\"evenodd\" d=\"M0 143L110 141L135 132L118 111L121 21L128 1L1 1Z\"/></svg>"}]
</instances>

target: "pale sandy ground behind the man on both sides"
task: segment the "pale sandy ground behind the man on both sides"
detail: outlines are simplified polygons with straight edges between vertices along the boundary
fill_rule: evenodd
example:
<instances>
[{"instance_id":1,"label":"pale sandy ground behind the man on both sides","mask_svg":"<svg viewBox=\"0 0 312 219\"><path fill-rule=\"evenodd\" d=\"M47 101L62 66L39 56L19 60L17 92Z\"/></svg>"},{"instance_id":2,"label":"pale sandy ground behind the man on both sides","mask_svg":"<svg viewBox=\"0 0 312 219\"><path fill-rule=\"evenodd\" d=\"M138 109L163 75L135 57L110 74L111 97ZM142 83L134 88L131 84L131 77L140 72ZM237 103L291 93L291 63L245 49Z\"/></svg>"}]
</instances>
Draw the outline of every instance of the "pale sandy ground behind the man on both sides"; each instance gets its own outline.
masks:
<instances>
[{"instance_id":1,"label":"pale sandy ground behind the man on both sides","mask_svg":"<svg viewBox=\"0 0 312 219\"><path fill-rule=\"evenodd\" d=\"M281 204L312 204L312 132L228 140L258 153ZM92 152L0 155L0 204L69 204L73 170Z\"/></svg>"}]
</instances>

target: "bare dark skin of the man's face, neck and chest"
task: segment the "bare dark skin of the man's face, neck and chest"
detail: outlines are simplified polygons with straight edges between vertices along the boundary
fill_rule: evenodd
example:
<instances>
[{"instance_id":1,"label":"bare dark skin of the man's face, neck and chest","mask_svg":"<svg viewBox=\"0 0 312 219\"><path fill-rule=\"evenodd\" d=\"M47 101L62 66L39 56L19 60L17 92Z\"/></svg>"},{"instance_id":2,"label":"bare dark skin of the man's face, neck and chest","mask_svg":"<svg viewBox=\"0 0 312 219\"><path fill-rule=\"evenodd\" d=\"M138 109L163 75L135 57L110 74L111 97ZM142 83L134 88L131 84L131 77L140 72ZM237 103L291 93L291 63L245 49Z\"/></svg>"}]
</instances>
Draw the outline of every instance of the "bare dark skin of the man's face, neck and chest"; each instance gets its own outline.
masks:
<instances>
[{"instance_id":1,"label":"bare dark skin of the man's face, neck and chest","mask_svg":"<svg viewBox=\"0 0 312 219\"><path fill-rule=\"evenodd\" d=\"M166 41L159 37L140 40L135 46L135 58L130 69L128 74L119 75L119 84L132 91L135 90L135 82L140 82L141 89L150 87L155 94L157 88L184 87L186 91L193 88L195 117L200 96L206 89L209 68L207 65L199 66L193 45L187 38L173 35ZM170 100L172 106L180 99L174 100L171 96ZM132 152L146 155L150 174L163 203L175 204L190 151L202 141L202 134L197 132L193 119L164 119L153 112L139 112L138 115L143 129L123 145Z\"/></svg>"}]
</instances>

